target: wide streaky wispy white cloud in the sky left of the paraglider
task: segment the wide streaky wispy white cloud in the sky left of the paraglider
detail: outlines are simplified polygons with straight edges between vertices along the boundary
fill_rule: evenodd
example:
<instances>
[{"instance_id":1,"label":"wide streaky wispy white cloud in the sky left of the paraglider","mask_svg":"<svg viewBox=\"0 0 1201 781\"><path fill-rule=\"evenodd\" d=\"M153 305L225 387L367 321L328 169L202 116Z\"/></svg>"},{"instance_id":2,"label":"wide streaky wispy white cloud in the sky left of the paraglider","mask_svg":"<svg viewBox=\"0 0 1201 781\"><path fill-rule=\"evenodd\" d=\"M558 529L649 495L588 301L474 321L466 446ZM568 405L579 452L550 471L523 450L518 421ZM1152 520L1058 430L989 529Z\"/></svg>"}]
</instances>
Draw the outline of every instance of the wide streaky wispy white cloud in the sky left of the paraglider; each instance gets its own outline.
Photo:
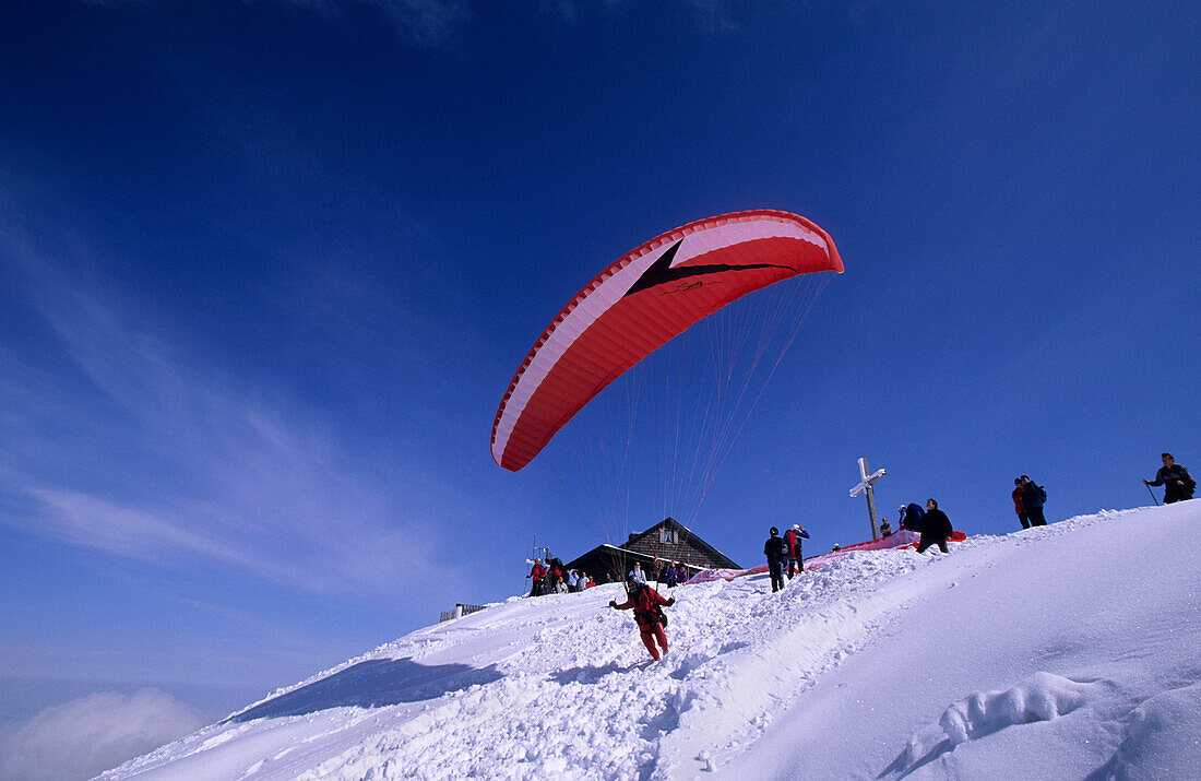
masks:
<instances>
[{"instance_id":1,"label":"wide streaky wispy white cloud in the sky left of the paraglider","mask_svg":"<svg viewBox=\"0 0 1201 781\"><path fill-rule=\"evenodd\" d=\"M265 378L204 365L103 282L4 233L0 254L70 371L0 345L14 358L0 369L0 523L315 592L398 592L447 577L434 555L440 530L404 496L422 490L420 476L348 453L319 410Z\"/></svg>"}]
</instances>

